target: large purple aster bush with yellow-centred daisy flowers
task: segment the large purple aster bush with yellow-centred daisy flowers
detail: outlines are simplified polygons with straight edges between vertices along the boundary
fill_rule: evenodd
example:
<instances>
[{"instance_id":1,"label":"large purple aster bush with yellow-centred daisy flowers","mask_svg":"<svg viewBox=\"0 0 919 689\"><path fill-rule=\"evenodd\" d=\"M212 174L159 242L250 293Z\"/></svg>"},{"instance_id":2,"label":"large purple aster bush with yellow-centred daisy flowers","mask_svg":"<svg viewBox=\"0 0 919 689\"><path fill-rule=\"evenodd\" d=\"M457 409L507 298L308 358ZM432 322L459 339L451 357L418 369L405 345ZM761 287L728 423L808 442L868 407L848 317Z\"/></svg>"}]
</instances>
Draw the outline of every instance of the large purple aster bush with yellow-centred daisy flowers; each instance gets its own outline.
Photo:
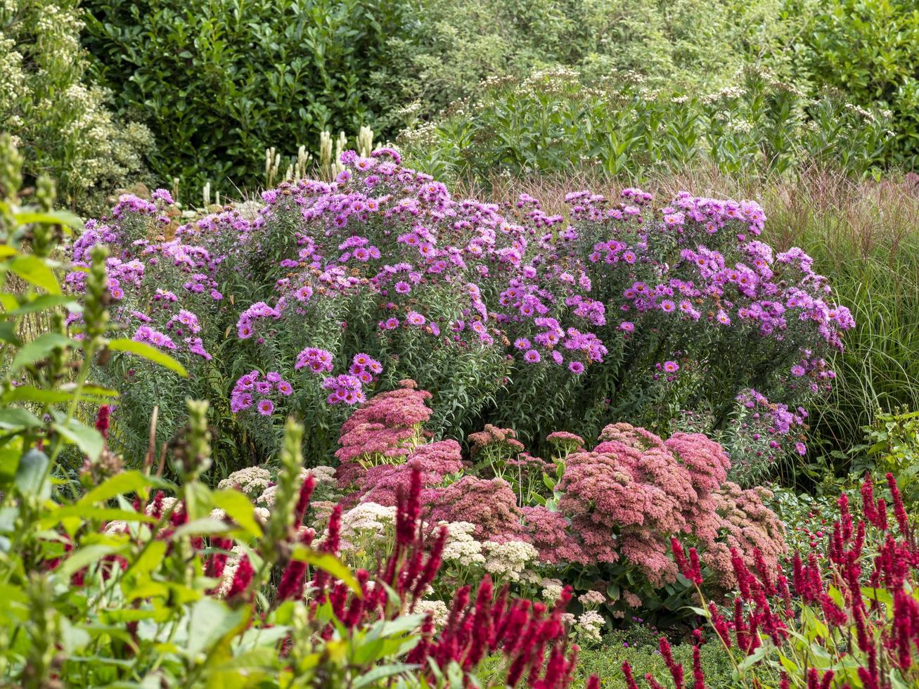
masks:
<instances>
[{"instance_id":1,"label":"large purple aster bush with yellow-centred daisy flowers","mask_svg":"<svg viewBox=\"0 0 919 689\"><path fill-rule=\"evenodd\" d=\"M432 394L440 436L492 421L523 439L596 437L610 418L688 409L738 466L805 451L801 405L825 392L824 357L853 321L807 254L757 239L756 203L682 193L654 209L639 189L581 191L565 217L527 196L506 209L454 199L399 160L346 152L335 182L285 183L254 218L227 209L175 239L161 234L167 192L124 197L74 258L96 243L117 254L119 324L184 357L191 391L220 395L221 427L253 459L284 413L310 418L305 449L330 455L346 409L403 378ZM276 387L258 397L250 382ZM130 436L143 437L155 383L116 411Z\"/></svg>"}]
</instances>

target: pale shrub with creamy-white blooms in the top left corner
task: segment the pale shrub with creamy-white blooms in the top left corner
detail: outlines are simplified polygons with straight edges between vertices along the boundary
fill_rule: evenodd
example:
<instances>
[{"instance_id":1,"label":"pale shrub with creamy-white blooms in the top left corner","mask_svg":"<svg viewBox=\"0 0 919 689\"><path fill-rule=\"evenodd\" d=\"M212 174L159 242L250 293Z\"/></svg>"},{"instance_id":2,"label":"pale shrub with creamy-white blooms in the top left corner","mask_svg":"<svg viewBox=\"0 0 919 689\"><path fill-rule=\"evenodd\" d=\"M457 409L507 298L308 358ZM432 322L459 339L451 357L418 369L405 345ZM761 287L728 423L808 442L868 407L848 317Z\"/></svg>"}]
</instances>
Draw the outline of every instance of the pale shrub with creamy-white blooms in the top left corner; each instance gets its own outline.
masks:
<instances>
[{"instance_id":1,"label":"pale shrub with creamy-white blooms in the top left corner","mask_svg":"<svg viewBox=\"0 0 919 689\"><path fill-rule=\"evenodd\" d=\"M74 208L101 201L142 170L149 130L121 122L108 93L85 84L78 0L10 0L0 6L0 130L16 137L26 182L58 180Z\"/></svg>"}]
</instances>

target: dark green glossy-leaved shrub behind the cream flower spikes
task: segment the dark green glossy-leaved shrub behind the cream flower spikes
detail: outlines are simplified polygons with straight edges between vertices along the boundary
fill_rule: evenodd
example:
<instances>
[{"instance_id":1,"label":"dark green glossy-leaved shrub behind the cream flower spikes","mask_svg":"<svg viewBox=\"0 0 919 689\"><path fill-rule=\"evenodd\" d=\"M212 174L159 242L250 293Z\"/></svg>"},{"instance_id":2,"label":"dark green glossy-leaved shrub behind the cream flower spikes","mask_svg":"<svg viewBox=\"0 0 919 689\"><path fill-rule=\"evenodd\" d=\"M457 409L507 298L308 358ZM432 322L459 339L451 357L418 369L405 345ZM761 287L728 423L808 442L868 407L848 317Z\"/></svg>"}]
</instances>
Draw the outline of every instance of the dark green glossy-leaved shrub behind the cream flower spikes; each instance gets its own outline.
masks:
<instances>
[{"instance_id":1,"label":"dark green glossy-leaved shrub behind the cream flower spikes","mask_svg":"<svg viewBox=\"0 0 919 689\"><path fill-rule=\"evenodd\" d=\"M252 186L265 150L323 130L357 131L393 107L386 40L408 20L398 0L89 0L85 45L119 111L142 118L161 178L217 190Z\"/></svg>"}]
</instances>

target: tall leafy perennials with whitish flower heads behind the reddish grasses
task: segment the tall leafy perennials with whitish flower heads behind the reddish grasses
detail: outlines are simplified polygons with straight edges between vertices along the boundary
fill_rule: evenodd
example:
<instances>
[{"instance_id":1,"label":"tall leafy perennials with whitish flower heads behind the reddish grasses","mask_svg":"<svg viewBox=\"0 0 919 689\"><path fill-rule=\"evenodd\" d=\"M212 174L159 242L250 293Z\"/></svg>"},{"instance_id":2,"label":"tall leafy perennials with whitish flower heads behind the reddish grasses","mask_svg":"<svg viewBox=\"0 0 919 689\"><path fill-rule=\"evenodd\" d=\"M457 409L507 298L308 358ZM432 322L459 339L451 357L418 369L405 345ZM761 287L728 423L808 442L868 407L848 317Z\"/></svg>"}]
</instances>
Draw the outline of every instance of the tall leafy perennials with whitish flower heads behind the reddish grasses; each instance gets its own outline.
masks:
<instances>
[{"instance_id":1,"label":"tall leafy perennials with whitish flower heads behind the reddish grasses","mask_svg":"<svg viewBox=\"0 0 919 689\"><path fill-rule=\"evenodd\" d=\"M789 172L803 162L878 175L888 150L879 116L811 100L766 71L686 95L623 75L592 83L570 70L495 85L444 118L404 132L409 164L447 178L586 173L643 183L711 165L727 175Z\"/></svg>"}]
</instances>

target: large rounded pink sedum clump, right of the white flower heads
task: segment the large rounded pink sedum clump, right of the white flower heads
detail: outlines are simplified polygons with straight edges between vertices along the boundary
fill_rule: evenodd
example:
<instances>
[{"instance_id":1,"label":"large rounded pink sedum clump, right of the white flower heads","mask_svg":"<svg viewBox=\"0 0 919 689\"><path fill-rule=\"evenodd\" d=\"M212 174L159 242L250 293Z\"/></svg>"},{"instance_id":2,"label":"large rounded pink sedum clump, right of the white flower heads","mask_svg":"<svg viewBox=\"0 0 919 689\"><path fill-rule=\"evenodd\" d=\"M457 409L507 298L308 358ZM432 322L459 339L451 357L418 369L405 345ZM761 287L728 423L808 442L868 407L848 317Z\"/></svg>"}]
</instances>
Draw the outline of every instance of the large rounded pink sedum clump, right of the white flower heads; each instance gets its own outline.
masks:
<instances>
[{"instance_id":1,"label":"large rounded pink sedum clump, right of the white flower heads","mask_svg":"<svg viewBox=\"0 0 919 689\"><path fill-rule=\"evenodd\" d=\"M712 583L732 585L731 548L773 564L785 549L781 523L758 491L725 482L730 461L704 435L667 441L629 424L604 429L593 450L565 459L559 510L584 553L627 559L654 586L673 582L670 537L691 534L709 553Z\"/></svg>"}]
</instances>

